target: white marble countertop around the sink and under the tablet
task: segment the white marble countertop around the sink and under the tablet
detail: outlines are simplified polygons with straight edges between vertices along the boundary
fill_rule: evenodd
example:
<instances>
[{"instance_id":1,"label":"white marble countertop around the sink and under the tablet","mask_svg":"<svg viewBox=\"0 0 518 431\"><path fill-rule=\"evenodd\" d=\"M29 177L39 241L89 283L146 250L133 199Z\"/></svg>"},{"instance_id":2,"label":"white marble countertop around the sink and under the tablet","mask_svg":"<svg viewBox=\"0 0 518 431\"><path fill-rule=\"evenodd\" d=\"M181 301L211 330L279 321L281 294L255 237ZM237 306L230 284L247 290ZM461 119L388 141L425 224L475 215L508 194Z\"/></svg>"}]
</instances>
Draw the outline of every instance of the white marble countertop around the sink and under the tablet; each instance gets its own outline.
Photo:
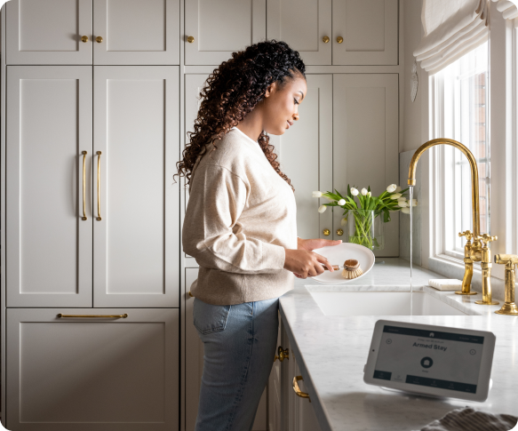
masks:
<instances>
[{"instance_id":1,"label":"white marble countertop around the sink and under the tablet","mask_svg":"<svg viewBox=\"0 0 518 431\"><path fill-rule=\"evenodd\" d=\"M476 306L481 294L461 297L426 287L429 278L445 278L421 267L412 271L414 291L426 291L457 307L461 316L337 316L323 315L310 291L410 291L409 263L384 259L361 279L328 285L296 280L295 289L280 299L280 312L297 357L315 414L326 430L418 430L448 411L466 405L518 416L518 316L495 315L500 306ZM363 366L379 319L426 323L480 331L496 337L491 371L493 386L484 403L434 399L389 392L363 382Z\"/></svg>"}]
</instances>

